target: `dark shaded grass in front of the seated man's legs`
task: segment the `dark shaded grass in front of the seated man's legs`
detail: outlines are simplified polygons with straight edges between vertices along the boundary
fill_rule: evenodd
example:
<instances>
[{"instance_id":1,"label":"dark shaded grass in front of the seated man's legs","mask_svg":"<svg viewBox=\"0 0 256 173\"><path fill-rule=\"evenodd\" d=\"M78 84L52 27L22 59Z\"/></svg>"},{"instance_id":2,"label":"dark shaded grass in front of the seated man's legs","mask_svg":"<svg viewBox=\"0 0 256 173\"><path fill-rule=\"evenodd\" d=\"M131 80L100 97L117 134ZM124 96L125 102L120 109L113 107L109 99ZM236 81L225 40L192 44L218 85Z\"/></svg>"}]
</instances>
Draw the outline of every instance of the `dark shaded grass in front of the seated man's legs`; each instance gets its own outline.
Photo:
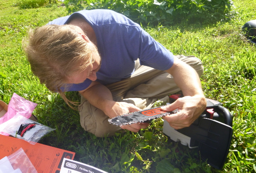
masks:
<instances>
[{"instance_id":1,"label":"dark shaded grass in front of the seated man's legs","mask_svg":"<svg viewBox=\"0 0 256 173\"><path fill-rule=\"evenodd\" d=\"M77 92L69 92L67 96L73 101L80 99ZM37 112L40 123L56 129L41 144L73 151L74 160L106 172L211 172L200 161L197 149L167 140L161 119L152 121L150 127L138 133L122 130L113 137L97 138L81 127L78 111L69 108L58 94L49 95L44 109Z\"/></svg>"}]
</instances>

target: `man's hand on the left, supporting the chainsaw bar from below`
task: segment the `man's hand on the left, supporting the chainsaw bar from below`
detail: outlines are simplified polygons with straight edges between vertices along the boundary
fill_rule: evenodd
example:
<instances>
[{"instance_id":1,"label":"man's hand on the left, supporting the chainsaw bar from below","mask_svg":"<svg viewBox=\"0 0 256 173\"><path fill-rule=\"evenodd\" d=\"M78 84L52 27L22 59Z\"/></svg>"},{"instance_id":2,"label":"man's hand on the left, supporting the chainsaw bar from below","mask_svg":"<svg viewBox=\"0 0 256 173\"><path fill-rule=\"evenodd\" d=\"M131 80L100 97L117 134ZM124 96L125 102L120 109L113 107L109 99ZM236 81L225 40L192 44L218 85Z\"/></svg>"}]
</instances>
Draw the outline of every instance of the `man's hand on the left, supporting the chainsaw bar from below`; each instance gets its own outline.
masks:
<instances>
[{"instance_id":1,"label":"man's hand on the left, supporting the chainsaw bar from below","mask_svg":"<svg viewBox=\"0 0 256 173\"><path fill-rule=\"evenodd\" d=\"M110 118L114 118L118 115L123 115L131 112L139 111L140 109L133 104L126 103L126 102L109 102L109 108L106 110L105 114ZM149 126L149 123L138 122L131 125L121 126L122 129L130 130L132 132L138 132L141 129L145 129Z\"/></svg>"}]
</instances>

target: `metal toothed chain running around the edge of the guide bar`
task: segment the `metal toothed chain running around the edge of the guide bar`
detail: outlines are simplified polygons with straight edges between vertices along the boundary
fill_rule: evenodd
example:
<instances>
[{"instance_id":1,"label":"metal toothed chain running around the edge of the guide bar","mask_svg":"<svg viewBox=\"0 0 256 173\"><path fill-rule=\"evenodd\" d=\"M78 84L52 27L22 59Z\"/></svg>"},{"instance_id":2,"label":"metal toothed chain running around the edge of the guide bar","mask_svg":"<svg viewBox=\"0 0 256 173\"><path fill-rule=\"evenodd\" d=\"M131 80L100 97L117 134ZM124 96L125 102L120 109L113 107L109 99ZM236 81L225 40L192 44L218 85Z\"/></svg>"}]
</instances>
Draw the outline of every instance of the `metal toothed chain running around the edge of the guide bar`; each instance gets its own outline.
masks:
<instances>
[{"instance_id":1,"label":"metal toothed chain running around the edge of the guide bar","mask_svg":"<svg viewBox=\"0 0 256 173\"><path fill-rule=\"evenodd\" d=\"M166 114L155 115L155 116L151 116L149 118L143 118L143 119L140 119L140 120L125 122L125 123L122 123L122 122L116 123L116 122L112 121L113 119L118 118L118 117L126 116L126 115L129 115L129 114L134 114L134 113L139 113L139 112L146 111L146 110L157 109L157 108L160 108L160 107L162 107L162 106L149 108L149 109L143 109L143 110L140 110L140 111L137 111L137 112L127 113L127 114L123 114L123 115L118 115L117 117L108 119L108 121L111 124L115 125L115 126L126 126L126 125L131 125L131 124L134 124L134 123L138 123L138 122L151 121L153 119L161 118L161 117L166 116L166 115L176 114L177 112L179 112L179 110L175 110L175 111L171 111L171 112L166 112Z\"/></svg>"}]
</instances>

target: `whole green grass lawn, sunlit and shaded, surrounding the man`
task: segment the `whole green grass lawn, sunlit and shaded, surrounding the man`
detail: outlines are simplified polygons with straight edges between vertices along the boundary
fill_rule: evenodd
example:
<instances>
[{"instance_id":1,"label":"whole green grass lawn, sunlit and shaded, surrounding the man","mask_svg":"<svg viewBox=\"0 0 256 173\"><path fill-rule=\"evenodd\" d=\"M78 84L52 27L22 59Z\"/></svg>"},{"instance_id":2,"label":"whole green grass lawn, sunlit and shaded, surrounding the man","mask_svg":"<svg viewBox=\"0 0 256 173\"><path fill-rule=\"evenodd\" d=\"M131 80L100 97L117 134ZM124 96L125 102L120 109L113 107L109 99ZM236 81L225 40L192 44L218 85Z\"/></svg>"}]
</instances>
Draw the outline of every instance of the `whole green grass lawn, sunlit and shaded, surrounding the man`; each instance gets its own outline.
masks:
<instances>
[{"instance_id":1,"label":"whole green grass lawn, sunlit and shaded, surrounding the man","mask_svg":"<svg viewBox=\"0 0 256 173\"><path fill-rule=\"evenodd\" d=\"M56 128L40 143L76 152L75 160L110 173L254 173L256 45L246 41L241 26L256 19L256 1L234 0L234 3L237 14L229 22L144 27L175 55L200 58L205 68L201 80L206 97L222 102L232 113L232 145L221 171L200 161L196 149L167 141L161 119L138 133L123 131L111 138L96 138L81 128L78 112L32 75L21 48L28 28L67 15L58 4L19 9L14 5L15 0L0 0L0 99L8 103L15 92L36 102L34 114L39 122ZM68 96L79 101L76 92Z\"/></svg>"}]
</instances>

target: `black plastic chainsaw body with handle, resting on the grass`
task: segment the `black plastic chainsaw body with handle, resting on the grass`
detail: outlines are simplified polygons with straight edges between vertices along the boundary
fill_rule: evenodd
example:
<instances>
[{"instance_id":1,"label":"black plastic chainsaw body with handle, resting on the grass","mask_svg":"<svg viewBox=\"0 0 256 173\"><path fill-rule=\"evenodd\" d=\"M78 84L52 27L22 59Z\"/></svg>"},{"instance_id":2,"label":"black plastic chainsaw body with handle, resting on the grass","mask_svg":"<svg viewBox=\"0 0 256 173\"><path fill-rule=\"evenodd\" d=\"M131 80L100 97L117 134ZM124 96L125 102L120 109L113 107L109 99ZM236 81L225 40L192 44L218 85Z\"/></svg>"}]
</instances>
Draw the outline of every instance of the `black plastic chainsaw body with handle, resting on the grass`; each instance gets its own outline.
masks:
<instances>
[{"instance_id":1,"label":"black plastic chainsaw body with handle, resting on the grass","mask_svg":"<svg viewBox=\"0 0 256 173\"><path fill-rule=\"evenodd\" d=\"M199 118L191 126L176 131L191 138L189 146L198 146L202 160L216 169L223 168L233 130L232 115L220 102L207 99L207 108Z\"/></svg>"}]
</instances>

